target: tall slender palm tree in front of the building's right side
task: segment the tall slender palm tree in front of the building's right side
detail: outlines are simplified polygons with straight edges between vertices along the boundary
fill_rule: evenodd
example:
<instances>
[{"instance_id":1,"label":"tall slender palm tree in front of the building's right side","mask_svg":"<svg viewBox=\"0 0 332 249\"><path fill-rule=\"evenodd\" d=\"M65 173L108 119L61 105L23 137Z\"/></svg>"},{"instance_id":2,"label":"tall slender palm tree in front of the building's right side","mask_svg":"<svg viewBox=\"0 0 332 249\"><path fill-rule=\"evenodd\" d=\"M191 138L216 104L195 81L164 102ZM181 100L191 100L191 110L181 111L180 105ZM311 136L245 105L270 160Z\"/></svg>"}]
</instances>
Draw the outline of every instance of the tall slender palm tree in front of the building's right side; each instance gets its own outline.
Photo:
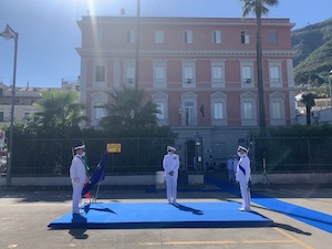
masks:
<instances>
[{"instance_id":1,"label":"tall slender palm tree in front of the building's right side","mask_svg":"<svg viewBox=\"0 0 332 249\"><path fill-rule=\"evenodd\" d=\"M256 55L257 55L257 85L258 85L258 104L259 104L259 126L264 128L266 108L264 108L264 90L262 75L262 42L261 42L261 15L267 14L269 9L266 6L278 6L278 0L240 0L243 2L242 17L250 13L256 14Z\"/></svg>"}]
</instances>

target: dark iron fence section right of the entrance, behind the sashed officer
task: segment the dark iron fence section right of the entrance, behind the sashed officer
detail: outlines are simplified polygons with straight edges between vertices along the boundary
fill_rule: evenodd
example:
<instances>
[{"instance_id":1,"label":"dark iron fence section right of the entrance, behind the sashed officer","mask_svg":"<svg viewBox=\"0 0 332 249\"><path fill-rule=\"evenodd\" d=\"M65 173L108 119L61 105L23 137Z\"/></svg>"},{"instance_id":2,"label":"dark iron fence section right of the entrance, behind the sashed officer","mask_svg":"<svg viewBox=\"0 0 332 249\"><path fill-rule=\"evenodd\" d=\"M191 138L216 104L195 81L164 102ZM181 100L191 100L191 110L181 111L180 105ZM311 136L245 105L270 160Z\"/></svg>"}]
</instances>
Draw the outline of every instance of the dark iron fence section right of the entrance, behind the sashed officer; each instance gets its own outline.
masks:
<instances>
[{"instance_id":1,"label":"dark iron fence section right of the entrance, behind the sashed officer","mask_svg":"<svg viewBox=\"0 0 332 249\"><path fill-rule=\"evenodd\" d=\"M256 137L251 160L255 170L270 173L331 172L332 137Z\"/></svg>"}]
</instances>

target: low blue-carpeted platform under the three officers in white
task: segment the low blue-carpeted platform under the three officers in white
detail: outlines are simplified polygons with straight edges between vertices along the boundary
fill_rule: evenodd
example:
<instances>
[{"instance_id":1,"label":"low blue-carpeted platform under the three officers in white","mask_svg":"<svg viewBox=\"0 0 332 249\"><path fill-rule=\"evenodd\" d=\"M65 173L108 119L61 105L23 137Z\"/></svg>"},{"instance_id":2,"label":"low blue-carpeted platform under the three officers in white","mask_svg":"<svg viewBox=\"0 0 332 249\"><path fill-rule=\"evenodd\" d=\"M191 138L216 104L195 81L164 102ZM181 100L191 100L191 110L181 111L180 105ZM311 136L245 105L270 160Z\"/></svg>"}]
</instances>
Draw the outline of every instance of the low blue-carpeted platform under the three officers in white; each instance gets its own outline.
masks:
<instances>
[{"instance_id":1,"label":"low blue-carpeted platform under the three officers in white","mask_svg":"<svg viewBox=\"0 0 332 249\"><path fill-rule=\"evenodd\" d=\"M239 211L238 203L92 204L83 206L86 222L73 222L72 214L52 221L50 228L220 228L266 227L272 220L257 214Z\"/></svg>"}]
</instances>

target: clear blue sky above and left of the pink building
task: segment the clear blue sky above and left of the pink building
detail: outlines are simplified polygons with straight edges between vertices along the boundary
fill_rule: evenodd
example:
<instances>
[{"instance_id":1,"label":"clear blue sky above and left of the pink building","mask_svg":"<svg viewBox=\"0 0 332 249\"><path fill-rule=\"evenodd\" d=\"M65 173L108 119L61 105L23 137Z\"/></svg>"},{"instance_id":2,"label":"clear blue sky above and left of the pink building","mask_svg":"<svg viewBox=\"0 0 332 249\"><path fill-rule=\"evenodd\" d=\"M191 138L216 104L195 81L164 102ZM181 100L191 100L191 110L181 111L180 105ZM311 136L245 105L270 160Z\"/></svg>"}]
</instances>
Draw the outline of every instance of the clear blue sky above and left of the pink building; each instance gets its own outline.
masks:
<instances>
[{"instance_id":1,"label":"clear blue sky above and left of the pink building","mask_svg":"<svg viewBox=\"0 0 332 249\"><path fill-rule=\"evenodd\" d=\"M19 33L17 86L60 87L80 75L82 15L136 14L137 0L0 0L0 32ZM279 0L268 18L290 18L294 29L332 17L332 0ZM239 0L141 0L142 15L240 18ZM0 38L0 81L12 83L13 40Z\"/></svg>"}]
</instances>

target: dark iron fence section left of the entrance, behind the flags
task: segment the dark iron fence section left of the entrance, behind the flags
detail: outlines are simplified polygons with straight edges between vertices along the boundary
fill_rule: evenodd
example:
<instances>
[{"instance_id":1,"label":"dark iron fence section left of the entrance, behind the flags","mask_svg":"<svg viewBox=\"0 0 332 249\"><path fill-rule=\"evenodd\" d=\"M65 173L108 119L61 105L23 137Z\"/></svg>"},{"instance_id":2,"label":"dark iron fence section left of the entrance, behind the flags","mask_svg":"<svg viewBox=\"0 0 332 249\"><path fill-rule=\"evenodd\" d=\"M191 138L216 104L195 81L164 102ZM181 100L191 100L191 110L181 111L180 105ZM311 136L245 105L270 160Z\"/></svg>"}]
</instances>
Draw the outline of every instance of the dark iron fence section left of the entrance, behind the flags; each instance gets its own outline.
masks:
<instances>
[{"instance_id":1,"label":"dark iron fence section left of the entrance, behind the flags","mask_svg":"<svg viewBox=\"0 0 332 249\"><path fill-rule=\"evenodd\" d=\"M72 148L80 139L15 139L12 176L68 176ZM106 174L146 174L162 170L167 138L85 139L87 165L93 170L107 144L121 144L120 153L107 153Z\"/></svg>"}]
</instances>

